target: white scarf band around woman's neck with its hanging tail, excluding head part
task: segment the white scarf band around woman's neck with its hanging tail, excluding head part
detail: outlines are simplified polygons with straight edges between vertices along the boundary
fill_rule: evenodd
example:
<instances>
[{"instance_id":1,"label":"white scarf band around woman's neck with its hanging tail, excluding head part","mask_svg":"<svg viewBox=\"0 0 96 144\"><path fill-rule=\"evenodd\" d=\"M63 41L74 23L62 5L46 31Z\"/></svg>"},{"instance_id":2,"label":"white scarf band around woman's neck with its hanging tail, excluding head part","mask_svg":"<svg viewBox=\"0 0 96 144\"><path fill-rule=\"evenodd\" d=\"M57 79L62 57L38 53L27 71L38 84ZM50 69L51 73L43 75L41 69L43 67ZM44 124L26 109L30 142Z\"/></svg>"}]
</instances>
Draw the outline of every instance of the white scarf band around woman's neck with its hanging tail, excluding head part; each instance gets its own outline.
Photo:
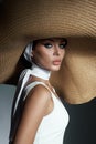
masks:
<instances>
[{"instance_id":1,"label":"white scarf band around woman's neck with its hanging tail, excluding head part","mask_svg":"<svg viewBox=\"0 0 96 144\"><path fill-rule=\"evenodd\" d=\"M19 88L19 92L17 94L17 101L15 101L15 105L14 105L14 110L13 110L13 115L17 111L17 107L18 107L18 103L19 103L19 100L20 100L20 96L21 96L21 93L23 91L23 88L25 85L25 83L28 82L30 75L34 75L36 78L41 78L41 79L44 79L44 80L49 80L50 75L51 75L51 72L47 71L47 70L44 70L40 66L38 66L36 64L32 63L32 68L31 69L25 69L21 75L20 75L20 79L19 81L22 80L22 84L21 86Z\"/></svg>"}]
</instances>

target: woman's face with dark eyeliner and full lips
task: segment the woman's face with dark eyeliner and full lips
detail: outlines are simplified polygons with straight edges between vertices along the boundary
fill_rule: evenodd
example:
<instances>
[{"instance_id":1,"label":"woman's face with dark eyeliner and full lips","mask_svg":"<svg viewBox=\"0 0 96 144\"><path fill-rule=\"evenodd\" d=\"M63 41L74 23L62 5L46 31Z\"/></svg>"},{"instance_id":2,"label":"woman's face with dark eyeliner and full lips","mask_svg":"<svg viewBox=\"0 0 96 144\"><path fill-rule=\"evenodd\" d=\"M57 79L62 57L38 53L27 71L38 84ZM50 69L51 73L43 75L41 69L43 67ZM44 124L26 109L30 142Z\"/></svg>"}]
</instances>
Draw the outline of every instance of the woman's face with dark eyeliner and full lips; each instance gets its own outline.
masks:
<instances>
[{"instance_id":1,"label":"woman's face with dark eyeliner and full lips","mask_svg":"<svg viewBox=\"0 0 96 144\"><path fill-rule=\"evenodd\" d=\"M32 61L41 68L57 71L65 54L66 40L61 38L38 40L33 51Z\"/></svg>"}]
</instances>

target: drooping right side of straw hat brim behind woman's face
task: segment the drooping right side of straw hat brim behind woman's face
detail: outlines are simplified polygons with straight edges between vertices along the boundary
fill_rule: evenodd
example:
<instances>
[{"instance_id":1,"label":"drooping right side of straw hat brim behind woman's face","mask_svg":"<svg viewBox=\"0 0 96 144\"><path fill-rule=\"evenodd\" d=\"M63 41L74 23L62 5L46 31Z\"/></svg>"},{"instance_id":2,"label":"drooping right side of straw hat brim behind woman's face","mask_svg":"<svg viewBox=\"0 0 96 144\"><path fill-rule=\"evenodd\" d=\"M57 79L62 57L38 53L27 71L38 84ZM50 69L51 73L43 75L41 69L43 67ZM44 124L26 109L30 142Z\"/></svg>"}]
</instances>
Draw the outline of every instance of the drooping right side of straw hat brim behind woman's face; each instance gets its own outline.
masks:
<instances>
[{"instance_id":1,"label":"drooping right side of straw hat brim behind woman's face","mask_svg":"<svg viewBox=\"0 0 96 144\"><path fill-rule=\"evenodd\" d=\"M87 103L96 97L96 39L68 38L62 68L53 72L58 95L71 104Z\"/></svg>"}]
</instances>

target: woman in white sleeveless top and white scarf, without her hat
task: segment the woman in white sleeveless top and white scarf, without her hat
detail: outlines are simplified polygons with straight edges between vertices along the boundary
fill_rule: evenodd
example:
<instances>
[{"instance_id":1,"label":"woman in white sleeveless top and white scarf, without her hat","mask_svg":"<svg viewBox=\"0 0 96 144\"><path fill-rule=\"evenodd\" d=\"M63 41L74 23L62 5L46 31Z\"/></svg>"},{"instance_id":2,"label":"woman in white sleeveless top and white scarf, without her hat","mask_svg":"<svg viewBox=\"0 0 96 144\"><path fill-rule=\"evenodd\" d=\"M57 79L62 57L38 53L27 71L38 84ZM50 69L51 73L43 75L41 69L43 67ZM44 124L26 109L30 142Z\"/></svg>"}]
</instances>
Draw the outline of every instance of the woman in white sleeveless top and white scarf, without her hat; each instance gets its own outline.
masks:
<instances>
[{"instance_id":1,"label":"woman in white sleeveless top and white scarf, without her hat","mask_svg":"<svg viewBox=\"0 0 96 144\"><path fill-rule=\"evenodd\" d=\"M68 114L50 83L67 44L64 38L35 40L24 58L32 64L21 73L12 110L10 143L63 144Z\"/></svg>"}]
</instances>

